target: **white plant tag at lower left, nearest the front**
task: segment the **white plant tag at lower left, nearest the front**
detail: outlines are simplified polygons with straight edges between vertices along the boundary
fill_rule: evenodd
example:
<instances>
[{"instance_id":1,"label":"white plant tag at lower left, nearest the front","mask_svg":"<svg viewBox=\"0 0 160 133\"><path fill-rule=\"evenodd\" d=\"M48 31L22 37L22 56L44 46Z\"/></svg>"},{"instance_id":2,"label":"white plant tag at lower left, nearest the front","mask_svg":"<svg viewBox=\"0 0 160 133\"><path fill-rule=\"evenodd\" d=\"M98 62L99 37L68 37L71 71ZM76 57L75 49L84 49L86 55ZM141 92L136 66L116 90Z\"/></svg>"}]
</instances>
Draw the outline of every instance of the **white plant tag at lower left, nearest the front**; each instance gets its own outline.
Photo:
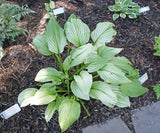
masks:
<instances>
[{"instance_id":1,"label":"white plant tag at lower left, nearest the front","mask_svg":"<svg viewBox=\"0 0 160 133\"><path fill-rule=\"evenodd\" d=\"M2 113L0 113L0 116L4 119L8 119L20 111L21 111L21 108L19 107L19 105L15 104L10 108L6 109L5 111L3 111Z\"/></svg>"}]
</instances>

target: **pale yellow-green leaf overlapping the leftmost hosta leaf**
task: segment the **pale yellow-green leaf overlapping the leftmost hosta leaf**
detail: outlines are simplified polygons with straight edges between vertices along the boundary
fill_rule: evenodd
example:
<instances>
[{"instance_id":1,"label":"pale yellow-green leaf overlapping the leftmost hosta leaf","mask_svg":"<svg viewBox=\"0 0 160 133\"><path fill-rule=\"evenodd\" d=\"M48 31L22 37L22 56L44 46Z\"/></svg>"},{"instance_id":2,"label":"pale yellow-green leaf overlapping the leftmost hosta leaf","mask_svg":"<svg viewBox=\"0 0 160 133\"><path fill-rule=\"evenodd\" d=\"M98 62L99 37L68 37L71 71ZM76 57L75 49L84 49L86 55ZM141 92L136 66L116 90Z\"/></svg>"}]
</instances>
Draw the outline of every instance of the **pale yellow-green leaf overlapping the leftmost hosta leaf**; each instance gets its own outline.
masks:
<instances>
[{"instance_id":1,"label":"pale yellow-green leaf overlapping the leftmost hosta leaf","mask_svg":"<svg viewBox=\"0 0 160 133\"><path fill-rule=\"evenodd\" d=\"M47 83L35 93L31 105L45 105L56 99L55 86L52 83Z\"/></svg>"}]
</instances>

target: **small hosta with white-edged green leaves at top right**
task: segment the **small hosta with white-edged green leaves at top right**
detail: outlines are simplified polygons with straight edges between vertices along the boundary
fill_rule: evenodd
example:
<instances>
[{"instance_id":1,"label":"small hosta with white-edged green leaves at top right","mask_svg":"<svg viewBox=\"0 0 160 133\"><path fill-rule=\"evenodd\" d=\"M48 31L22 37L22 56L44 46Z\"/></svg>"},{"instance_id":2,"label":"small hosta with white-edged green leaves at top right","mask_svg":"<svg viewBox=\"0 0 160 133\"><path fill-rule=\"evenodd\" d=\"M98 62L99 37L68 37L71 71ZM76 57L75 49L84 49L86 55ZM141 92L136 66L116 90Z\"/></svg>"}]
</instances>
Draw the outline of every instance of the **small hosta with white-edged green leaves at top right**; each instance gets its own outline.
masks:
<instances>
[{"instance_id":1,"label":"small hosta with white-edged green leaves at top right","mask_svg":"<svg viewBox=\"0 0 160 133\"><path fill-rule=\"evenodd\" d=\"M119 17L125 19L127 16L131 19L137 18L140 15L138 9L140 6L132 2L132 0L115 0L115 5L108 7L110 11L114 12L113 20Z\"/></svg>"}]
</instances>

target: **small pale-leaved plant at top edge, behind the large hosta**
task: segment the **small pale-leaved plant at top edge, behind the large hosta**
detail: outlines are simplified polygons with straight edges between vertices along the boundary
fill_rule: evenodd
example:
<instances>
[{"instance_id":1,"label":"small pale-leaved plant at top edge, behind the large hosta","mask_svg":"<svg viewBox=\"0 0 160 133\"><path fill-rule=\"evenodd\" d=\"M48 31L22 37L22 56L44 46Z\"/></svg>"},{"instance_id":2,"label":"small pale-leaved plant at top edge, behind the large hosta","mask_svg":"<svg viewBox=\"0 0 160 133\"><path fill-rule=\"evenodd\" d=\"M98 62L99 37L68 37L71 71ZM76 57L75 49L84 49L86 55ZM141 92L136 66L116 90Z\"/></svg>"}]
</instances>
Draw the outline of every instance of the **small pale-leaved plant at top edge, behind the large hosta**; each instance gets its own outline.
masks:
<instances>
[{"instance_id":1,"label":"small pale-leaved plant at top edge, behind the large hosta","mask_svg":"<svg viewBox=\"0 0 160 133\"><path fill-rule=\"evenodd\" d=\"M51 17L56 18L56 16L53 13L53 10L56 8L55 2L50 0L49 3L45 3L44 5L45 5L45 9L48 13L45 14L43 18L46 18L46 19L51 18Z\"/></svg>"}]
</instances>

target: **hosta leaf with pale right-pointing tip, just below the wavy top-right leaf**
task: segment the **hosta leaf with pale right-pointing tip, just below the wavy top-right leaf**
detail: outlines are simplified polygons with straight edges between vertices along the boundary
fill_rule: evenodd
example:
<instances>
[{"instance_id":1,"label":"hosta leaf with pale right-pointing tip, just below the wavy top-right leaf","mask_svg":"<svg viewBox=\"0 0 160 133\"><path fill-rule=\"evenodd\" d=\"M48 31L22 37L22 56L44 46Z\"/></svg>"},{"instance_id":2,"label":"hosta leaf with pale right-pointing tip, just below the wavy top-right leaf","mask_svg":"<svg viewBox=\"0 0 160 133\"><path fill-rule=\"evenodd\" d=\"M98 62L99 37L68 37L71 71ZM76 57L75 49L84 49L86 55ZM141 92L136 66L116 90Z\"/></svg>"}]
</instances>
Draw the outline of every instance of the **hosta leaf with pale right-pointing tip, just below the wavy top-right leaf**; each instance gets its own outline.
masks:
<instances>
[{"instance_id":1,"label":"hosta leaf with pale right-pointing tip, just below the wavy top-right leaf","mask_svg":"<svg viewBox=\"0 0 160 133\"><path fill-rule=\"evenodd\" d=\"M100 46L97 49L97 54L108 61L111 60L116 54L120 53L121 50L121 48Z\"/></svg>"}]
</instances>

